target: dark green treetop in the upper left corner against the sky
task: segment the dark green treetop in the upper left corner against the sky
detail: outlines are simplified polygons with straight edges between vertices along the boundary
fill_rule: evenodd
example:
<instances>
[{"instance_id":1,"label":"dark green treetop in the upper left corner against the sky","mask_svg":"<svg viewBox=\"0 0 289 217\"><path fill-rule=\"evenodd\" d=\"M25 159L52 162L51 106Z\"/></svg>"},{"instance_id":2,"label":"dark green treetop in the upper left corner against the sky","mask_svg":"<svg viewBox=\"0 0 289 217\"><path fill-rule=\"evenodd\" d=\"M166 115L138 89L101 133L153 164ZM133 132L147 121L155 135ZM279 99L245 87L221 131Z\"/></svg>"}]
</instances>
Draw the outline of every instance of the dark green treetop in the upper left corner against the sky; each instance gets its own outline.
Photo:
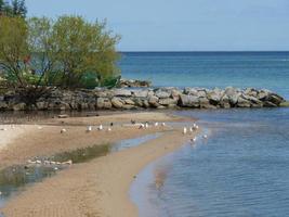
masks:
<instances>
[{"instance_id":1,"label":"dark green treetop in the upper left corner against the sky","mask_svg":"<svg viewBox=\"0 0 289 217\"><path fill-rule=\"evenodd\" d=\"M12 0L11 2L0 0L0 16L19 16L25 17L27 8L25 0Z\"/></svg>"}]
</instances>

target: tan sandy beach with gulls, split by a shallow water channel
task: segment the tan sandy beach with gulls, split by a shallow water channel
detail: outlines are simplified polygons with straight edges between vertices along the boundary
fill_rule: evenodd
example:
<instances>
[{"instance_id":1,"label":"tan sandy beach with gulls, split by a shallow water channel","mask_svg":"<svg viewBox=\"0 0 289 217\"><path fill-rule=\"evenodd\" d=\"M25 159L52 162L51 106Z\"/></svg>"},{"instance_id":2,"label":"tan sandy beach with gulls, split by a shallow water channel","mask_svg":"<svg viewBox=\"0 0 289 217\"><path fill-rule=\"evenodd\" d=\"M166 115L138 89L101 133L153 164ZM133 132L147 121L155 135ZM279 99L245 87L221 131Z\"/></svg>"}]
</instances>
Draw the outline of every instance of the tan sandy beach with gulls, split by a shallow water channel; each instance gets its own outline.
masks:
<instances>
[{"instance_id":1,"label":"tan sandy beach with gulls, split by a shallow water channel","mask_svg":"<svg viewBox=\"0 0 289 217\"><path fill-rule=\"evenodd\" d=\"M34 184L9 201L2 209L4 216L137 216L137 207L130 201L128 191L131 182L137 179L139 171L149 162L180 148L194 136L184 136L181 127L171 126L152 126L140 130L139 127L126 125L131 119L184 120L163 113L132 113L49 119L39 125L21 126L25 130L18 137L6 137L9 142L0 152L0 167L23 164L29 157L51 155L80 146L115 142L158 131L163 133L139 146L115 152L89 163L73 165L69 169L60 171L57 176ZM103 130L86 133L86 125L103 124L107 128L110 122L114 122L114 129L110 132ZM193 122L193 119L186 119L186 122ZM18 127L16 126L16 129ZM67 132L61 135L62 128L67 129ZM10 130L12 131L9 129L3 132Z\"/></svg>"}]
</instances>

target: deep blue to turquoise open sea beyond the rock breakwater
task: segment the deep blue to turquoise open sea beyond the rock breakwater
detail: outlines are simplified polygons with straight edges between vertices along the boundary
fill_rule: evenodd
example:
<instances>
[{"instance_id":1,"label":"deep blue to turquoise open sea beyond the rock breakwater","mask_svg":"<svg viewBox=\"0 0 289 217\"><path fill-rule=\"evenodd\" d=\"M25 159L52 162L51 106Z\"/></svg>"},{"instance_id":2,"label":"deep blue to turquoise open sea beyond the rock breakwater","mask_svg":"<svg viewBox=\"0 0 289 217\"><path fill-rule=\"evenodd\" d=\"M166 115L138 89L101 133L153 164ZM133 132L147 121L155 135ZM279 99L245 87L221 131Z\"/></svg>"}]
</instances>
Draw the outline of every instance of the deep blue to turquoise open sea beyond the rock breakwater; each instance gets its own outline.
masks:
<instances>
[{"instance_id":1,"label":"deep blue to turquoise open sea beyond the rock breakwater","mask_svg":"<svg viewBox=\"0 0 289 217\"><path fill-rule=\"evenodd\" d=\"M266 88L289 99L289 52L127 52L122 77L155 86Z\"/></svg>"}]
</instances>

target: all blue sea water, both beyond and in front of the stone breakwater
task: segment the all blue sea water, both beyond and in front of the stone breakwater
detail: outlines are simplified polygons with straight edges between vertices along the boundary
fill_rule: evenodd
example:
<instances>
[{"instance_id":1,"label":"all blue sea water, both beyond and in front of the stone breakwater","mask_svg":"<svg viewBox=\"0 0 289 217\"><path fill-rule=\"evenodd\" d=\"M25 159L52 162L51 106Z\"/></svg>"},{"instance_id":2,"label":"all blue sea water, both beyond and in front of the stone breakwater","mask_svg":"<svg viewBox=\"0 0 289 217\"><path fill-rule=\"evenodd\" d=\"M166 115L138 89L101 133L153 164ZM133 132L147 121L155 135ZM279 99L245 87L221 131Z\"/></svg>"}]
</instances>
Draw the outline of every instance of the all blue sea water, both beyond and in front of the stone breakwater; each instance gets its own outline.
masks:
<instances>
[{"instance_id":1,"label":"all blue sea water, both beyond and in front of the stone breakwater","mask_svg":"<svg viewBox=\"0 0 289 217\"><path fill-rule=\"evenodd\" d=\"M254 87L289 99L289 52L126 52L119 66L155 87ZM137 175L130 196L141 217L289 216L288 107L173 113L197 118L208 139Z\"/></svg>"}]
</instances>

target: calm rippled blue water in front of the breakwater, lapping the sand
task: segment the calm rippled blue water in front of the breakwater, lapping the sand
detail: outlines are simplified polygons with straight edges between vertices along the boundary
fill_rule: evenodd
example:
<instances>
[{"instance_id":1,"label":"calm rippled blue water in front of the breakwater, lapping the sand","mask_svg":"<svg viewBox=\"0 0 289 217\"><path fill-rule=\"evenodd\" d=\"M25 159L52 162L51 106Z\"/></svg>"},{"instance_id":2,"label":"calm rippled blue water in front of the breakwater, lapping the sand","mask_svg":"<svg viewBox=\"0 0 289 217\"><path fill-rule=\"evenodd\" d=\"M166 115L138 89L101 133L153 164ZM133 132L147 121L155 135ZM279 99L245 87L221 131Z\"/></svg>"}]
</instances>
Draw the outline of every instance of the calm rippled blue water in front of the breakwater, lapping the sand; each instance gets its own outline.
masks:
<instances>
[{"instance_id":1,"label":"calm rippled blue water in front of the breakwater, lapping the sand","mask_svg":"<svg viewBox=\"0 0 289 217\"><path fill-rule=\"evenodd\" d=\"M289 108L178 114L200 118L209 139L141 173L131 191L142 217L289 216Z\"/></svg>"}]
</instances>

